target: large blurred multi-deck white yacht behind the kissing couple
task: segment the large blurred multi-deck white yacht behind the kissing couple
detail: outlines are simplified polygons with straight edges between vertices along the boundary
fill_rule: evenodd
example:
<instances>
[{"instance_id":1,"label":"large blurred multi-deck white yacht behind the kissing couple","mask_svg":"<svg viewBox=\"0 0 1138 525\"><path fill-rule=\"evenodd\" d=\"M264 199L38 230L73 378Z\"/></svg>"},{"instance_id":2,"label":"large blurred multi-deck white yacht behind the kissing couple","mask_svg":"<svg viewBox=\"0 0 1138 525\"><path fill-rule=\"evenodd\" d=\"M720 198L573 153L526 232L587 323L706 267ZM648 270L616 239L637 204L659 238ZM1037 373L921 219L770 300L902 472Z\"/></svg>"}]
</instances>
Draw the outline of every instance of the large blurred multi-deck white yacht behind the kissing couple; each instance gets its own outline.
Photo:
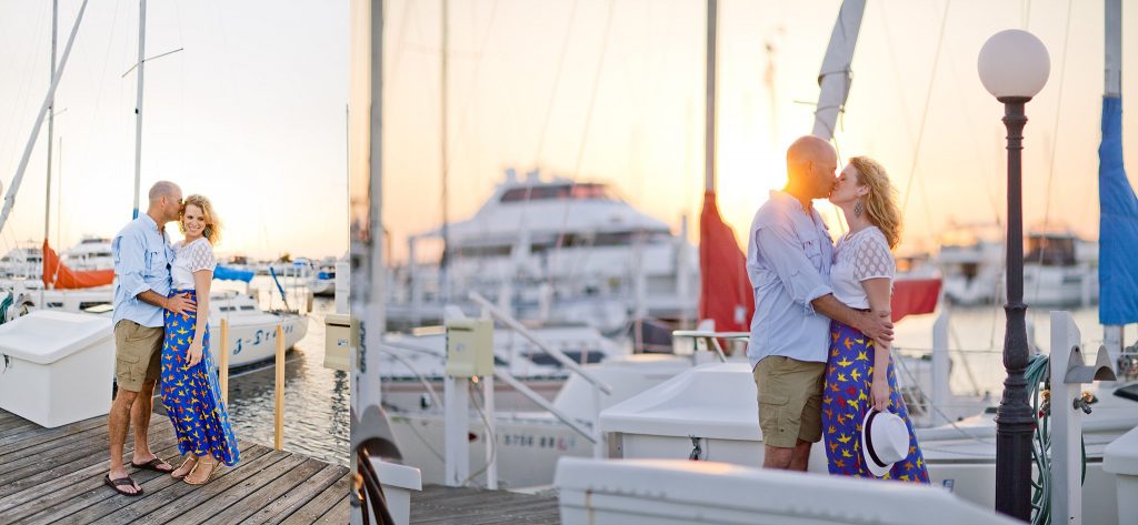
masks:
<instances>
[{"instance_id":1,"label":"large blurred multi-deck white yacht behind the kissing couple","mask_svg":"<svg viewBox=\"0 0 1138 525\"><path fill-rule=\"evenodd\" d=\"M442 268L439 260L418 257L424 242L442 245L442 228L409 240L410 261L391 268L389 327L438 323L447 299L472 314L470 291L522 320L585 324L604 333L634 318L696 314L699 255L686 232L674 234L604 183L537 172L519 180L509 169L481 209L450 224L446 236Z\"/></svg>"}]
</instances>

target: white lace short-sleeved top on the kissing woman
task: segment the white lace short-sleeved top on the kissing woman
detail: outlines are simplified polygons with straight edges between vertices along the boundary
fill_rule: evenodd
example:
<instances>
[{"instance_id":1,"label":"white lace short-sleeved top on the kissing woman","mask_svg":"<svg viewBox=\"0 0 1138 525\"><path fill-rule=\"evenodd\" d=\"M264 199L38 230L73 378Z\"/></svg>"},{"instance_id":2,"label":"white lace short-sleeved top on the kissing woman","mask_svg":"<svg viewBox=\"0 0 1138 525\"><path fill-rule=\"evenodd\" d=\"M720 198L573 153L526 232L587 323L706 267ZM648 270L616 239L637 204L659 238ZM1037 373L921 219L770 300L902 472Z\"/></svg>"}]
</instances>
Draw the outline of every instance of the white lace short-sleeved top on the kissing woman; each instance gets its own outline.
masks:
<instances>
[{"instance_id":1,"label":"white lace short-sleeved top on the kissing woman","mask_svg":"<svg viewBox=\"0 0 1138 525\"><path fill-rule=\"evenodd\" d=\"M869 226L838 240L830 285L834 297L846 306L867 309L869 298L861 288L861 281L875 277L892 280L896 270L897 264L889 251L885 234L876 226Z\"/></svg>"}]
</instances>

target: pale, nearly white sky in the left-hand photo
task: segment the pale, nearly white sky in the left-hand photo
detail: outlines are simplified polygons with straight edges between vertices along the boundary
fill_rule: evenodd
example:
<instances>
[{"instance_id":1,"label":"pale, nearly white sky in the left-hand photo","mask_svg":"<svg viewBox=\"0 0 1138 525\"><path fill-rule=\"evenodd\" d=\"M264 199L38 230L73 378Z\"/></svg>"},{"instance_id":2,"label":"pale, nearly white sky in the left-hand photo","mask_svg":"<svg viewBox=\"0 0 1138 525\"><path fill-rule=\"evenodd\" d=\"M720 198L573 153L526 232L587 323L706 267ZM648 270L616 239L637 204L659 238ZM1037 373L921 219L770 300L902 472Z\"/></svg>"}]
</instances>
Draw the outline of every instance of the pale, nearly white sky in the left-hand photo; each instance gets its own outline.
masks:
<instances>
[{"instance_id":1,"label":"pale, nearly white sky in the left-hand photo","mask_svg":"<svg viewBox=\"0 0 1138 525\"><path fill-rule=\"evenodd\" d=\"M60 57L81 5L59 0ZM114 235L131 217L137 77L123 73L138 58L138 11L137 0L91 1L64 70L61 239L55 194L50 235L63 248ZM347 13L347 2L148 1L147 57L185 49L147 63L143 209L149 185L171 180L213 200L225 222L221 252L341 256ZM0 49L7 192L49 86L51 2L0 2ZM46 139L47 124L0 233L2 252L43 239ZM180 236L173 224L170 232Z\"/></svg>"}]
</instances>

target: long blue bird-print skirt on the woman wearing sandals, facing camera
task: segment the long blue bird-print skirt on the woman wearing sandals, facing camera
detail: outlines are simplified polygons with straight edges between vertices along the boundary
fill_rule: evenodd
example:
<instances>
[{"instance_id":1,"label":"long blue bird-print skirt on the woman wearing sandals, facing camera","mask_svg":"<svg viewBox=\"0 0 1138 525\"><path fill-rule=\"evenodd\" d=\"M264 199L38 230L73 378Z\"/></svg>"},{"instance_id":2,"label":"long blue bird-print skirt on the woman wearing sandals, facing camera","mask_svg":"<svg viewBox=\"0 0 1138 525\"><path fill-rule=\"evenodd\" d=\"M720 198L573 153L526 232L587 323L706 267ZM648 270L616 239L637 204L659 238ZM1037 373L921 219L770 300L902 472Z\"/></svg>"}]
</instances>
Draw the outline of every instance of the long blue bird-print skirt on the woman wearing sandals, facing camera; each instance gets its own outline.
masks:
<instances>
[{"instance_id":1,"label":"long blue bird-print skirt on the woman wearing sandals, facing camera","mask_svg":"<svg viewBox=\"0 0 1138 525\"><path fill-rule=\"evenodd\" d=\"M197 300L193 290L174 290L170 297L189 293ZM174 314L165 311L166 340L162 344L162 403L174 424L178 449L181 453L213 456L225 465L233 466L239 458L237 439L229 425L229 414L221 399L217 373L214 370L209 352L209 327L205 330L201 344L201 360L189 365L190 342L197 314Z\"/></svg>"}]
</instances>

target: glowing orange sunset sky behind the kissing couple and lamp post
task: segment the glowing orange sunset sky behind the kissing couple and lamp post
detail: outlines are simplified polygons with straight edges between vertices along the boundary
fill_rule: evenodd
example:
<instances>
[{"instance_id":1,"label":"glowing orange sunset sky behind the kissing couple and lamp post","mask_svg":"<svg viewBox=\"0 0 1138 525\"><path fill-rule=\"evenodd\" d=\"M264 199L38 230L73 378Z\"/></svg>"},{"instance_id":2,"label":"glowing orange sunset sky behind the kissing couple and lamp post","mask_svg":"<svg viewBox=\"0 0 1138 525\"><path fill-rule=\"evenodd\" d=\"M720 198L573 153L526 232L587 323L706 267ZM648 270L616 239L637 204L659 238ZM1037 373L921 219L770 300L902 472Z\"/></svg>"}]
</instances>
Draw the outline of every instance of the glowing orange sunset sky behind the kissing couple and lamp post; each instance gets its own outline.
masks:
<instances>
[{"instance_id":1,"label":"glowing orange sunset sky behind the kissing couple and lamp post","mask_svg":"<svg viewBox=\"0 0 1138 525\"><path fill-rule=\"evenodd\" d=\"M439 5L395 1L386 14L384 216L396 259L407 234L442 217ZM720 1L718 189L741 236L767 190L785 182L785 147L810 131L839 6ZM452 2L451 217L477 210L505 168L541 167L610 182L677 232L686 215L696 241L704 9L699 0ZM1138 13L1124 17L1125 28L1138 26ZM1026 224L1097 238L1102 2L876 0L838 143L843 159L868 155L889 169L905 203L906 250L935 250L950 222L1004 218L1003 108L980 84L976 56L1012 27L1037 34L1052 56L1050 80L1028 106ZM1138 49L1135 32L1123 33L1123 49ZM1136 56L1124 59L1123 72L1136 70ZM1124 95L1133 77L1123 73ZM1133 144L1135 113L1125 115Z\"/></svg>"}]
</instances>

